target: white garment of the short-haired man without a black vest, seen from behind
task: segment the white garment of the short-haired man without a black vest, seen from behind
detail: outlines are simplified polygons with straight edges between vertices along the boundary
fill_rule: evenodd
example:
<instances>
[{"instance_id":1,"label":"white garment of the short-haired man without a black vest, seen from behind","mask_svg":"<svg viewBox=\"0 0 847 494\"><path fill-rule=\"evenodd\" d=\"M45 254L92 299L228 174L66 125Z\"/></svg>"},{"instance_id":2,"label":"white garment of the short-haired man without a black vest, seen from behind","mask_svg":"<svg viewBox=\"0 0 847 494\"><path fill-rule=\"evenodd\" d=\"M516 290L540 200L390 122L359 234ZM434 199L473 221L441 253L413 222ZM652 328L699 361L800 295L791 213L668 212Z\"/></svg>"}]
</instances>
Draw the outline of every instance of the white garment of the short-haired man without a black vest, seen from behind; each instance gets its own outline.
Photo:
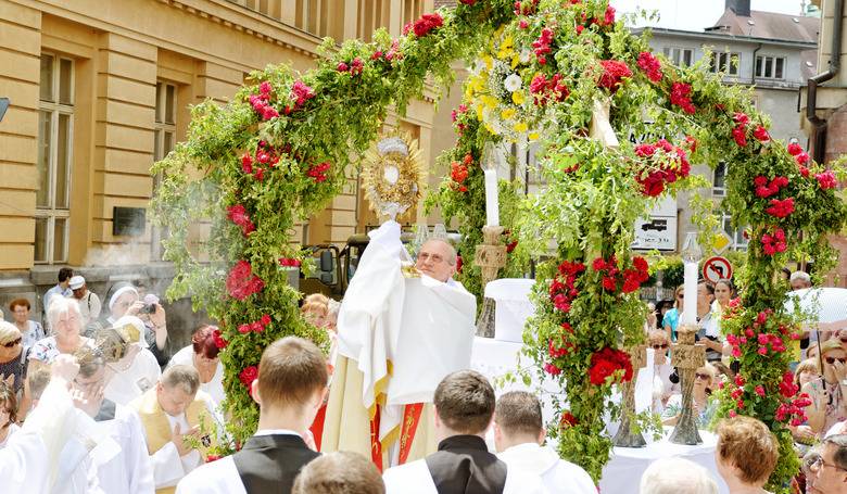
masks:
<instances>
[{"instance_id":1,"label":"white garment of the short-haired man without a black vest, seen from behind","mask_svg":"<svg viewBox=\"0 0 847 494\"><path fill-rule=\"evenodd\" d=\"M541 477L551 494L596 494L591 476L580 466L559 458L549 446L535 443L518 444L498 454L509 470L521 470Z\"/></svg>"}]
</instances>

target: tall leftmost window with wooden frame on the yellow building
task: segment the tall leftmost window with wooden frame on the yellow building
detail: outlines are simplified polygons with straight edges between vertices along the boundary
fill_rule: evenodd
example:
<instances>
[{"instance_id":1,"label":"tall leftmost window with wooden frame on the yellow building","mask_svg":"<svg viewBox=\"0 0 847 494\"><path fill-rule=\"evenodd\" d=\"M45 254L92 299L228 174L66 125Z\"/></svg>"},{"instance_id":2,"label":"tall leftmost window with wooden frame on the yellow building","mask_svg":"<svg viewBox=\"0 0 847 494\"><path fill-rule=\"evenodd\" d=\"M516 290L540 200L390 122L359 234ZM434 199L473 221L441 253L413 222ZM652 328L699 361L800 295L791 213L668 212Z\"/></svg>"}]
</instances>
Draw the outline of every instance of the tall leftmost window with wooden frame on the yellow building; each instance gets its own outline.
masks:
<instances>
[{"instance_id":1,"label":"tall leftmost window with wooden frame on the yellow building","mask_svg":"<svg viewBox=\"0 0 847 494\"><path fill-rule=\"evenodd\" d=\"M74 61L41 54L35 262L67 261L74 142Z\"/></svg>"}]
</instances>

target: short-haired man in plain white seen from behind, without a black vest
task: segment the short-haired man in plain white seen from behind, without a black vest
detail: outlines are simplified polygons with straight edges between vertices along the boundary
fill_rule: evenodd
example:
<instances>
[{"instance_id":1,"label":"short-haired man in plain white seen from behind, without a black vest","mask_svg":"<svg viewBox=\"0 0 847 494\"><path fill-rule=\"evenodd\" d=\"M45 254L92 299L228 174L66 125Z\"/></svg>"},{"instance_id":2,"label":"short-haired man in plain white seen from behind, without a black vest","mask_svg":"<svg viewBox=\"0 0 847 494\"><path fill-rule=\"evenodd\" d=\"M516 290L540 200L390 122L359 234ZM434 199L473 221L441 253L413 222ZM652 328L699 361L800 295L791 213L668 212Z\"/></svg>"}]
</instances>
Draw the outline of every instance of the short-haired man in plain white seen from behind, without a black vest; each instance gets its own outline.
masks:
<instances>
[{"instance_id":1,"label":"short-haired man in plain white seen from behind, without a black vest","mask_svg":"<svg viewBox=\"0 0 847 494\"><path fill-rule=\"evenodd\" d=\"M542 446L546 435L541 402L535 395L510 391L497 400L494 443L500 459L510 468L540 476L551 494L596 494L597 487L585 470L560 459L549 446Z\"/></svg>"}]
</instances>

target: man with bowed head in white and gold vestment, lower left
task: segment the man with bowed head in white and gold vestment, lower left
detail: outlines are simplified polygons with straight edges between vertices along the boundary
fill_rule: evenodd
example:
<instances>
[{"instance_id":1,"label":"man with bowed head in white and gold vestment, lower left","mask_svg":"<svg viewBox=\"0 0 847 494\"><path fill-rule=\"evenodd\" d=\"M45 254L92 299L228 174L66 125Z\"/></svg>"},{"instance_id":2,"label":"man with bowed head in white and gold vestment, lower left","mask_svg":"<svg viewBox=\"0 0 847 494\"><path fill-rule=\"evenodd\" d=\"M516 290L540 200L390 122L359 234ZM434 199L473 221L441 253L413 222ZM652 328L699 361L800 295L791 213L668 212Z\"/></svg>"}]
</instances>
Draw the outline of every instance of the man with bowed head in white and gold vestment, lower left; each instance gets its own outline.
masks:
<instances>
[{"instance_id":1,"label":"man with bowed head in white and gold vestment, lower left","mask_svg":"<svg viewBox=\"0 0 847 494\"><path fill-rule=\"evenodd\" d=\"M189 366L165 370L159 383L129 404L141 418L157 494L169 494L188 472L203 464L215 434L212 398ZM192 446L198 440L201 448Z\"/></svg>"}]
</instances>

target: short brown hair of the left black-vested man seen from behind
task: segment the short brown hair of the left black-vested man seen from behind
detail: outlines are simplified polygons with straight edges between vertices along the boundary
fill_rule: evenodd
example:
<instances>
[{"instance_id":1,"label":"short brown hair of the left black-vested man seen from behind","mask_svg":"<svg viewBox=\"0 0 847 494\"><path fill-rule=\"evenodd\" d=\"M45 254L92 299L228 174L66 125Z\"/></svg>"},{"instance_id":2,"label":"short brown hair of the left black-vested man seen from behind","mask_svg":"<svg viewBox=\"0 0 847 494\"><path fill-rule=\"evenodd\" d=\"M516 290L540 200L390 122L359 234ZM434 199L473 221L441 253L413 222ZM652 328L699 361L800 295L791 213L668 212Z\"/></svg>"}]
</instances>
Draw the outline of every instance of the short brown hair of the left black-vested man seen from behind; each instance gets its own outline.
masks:
<instances>
[{"instance_id":1,"label":"short brown hair of the left black-vested man seen from behind","mask_svg":"<svg viewBox=\"0 0 847 494\"><path fill-rule=\"evenodd\" d=\"M327 387L327 359L314 343L298 337L277 340L258 363L263 406L303 406Z\"/></svg>"}]
</instances>

